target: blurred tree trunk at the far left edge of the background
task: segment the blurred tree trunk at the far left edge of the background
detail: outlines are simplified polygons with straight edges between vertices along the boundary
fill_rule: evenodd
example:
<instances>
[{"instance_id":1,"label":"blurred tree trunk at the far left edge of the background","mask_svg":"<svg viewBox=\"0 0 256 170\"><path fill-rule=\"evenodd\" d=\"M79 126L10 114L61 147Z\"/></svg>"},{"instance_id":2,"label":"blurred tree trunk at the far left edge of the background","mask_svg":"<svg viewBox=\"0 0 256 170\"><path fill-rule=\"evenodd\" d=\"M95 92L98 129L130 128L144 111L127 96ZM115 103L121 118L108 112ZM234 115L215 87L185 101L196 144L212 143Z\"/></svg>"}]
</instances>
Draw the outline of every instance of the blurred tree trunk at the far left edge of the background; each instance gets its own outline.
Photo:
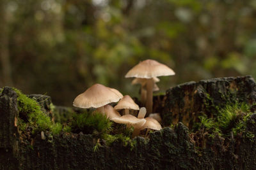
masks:
<instances>
[{"instance_id":1,"label":"blurred tree trunk at the far left edge of the background","mask_svg":"<svg viewBox=\"0 0 256 170\"><path fill-rule=\"evenodd\" d=\"M3 85L12 86L11 64L8 48L8 22L6 16L6 1L0 2L0 59L2 66ZM3 86L1 85L1 86Z\"/></svg>"}]
</instances>

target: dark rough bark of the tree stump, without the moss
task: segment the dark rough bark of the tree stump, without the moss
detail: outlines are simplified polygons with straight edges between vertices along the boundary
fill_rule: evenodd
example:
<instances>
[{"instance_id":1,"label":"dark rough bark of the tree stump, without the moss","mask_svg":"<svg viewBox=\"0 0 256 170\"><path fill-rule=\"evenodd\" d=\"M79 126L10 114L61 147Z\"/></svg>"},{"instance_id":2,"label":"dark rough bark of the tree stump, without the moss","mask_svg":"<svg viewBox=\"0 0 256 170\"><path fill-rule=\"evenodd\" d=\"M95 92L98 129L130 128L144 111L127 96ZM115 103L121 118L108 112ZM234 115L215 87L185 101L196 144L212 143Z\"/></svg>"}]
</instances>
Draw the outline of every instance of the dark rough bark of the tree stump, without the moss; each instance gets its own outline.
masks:
<instances>
[{"instance_id":1,"label":"dark rough bark of the tree stump, without the moss","mask_svg":"<svg viewBox=\"0 0 256 170\"><path fill-rule=\"evenodd\" d=\"M155 99L164 104L164 111L169 111L165 124L176 119L186 124L186 114L195 120L201 112L214 113L214 104L222 106L235 99L254 103L255 97L255 82L247 76L186 83ZM95 152L97 139L91 134L61 133L52 138L45 132L46 139L38 134L31 143L24 143L14 126L16 100L15 92L4 88L0 96L1 169L256 169L255 138L215 136L205 141L204 148L198 148L181 122L173 129L152 132L148 139L135 138L134 146L118 141L107 146L100 140L101 146ZM255 129L253 114L246 122L246 131L256 136Z\"/></svg>"}]
</instances>

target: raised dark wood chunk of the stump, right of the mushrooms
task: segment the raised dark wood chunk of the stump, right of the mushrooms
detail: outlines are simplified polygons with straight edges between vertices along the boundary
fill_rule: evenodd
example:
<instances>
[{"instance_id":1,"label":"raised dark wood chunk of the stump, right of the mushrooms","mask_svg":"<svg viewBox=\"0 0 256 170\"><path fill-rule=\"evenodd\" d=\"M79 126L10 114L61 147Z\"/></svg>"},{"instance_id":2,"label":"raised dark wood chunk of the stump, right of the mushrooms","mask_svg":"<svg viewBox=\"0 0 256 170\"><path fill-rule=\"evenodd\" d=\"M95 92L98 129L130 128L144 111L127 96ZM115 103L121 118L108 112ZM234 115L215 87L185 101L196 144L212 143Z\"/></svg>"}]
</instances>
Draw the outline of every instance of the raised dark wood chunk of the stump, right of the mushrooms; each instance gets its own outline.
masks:
<instances>
[{"instance_id":1,"label":"raised dark wood chunk of the stump, right of the mushrooms","mask_svg":"<svg viewBox=\"0 0 256 170\"><path fill-rule=\"evenodd\" d=\"M190 129L199 115L214 117L227 103L255 103L256 84L251 76L191 81L167 90L165 97L164 109L159 111L164 125L182 122Z\"/></svg>"}]
</instances>

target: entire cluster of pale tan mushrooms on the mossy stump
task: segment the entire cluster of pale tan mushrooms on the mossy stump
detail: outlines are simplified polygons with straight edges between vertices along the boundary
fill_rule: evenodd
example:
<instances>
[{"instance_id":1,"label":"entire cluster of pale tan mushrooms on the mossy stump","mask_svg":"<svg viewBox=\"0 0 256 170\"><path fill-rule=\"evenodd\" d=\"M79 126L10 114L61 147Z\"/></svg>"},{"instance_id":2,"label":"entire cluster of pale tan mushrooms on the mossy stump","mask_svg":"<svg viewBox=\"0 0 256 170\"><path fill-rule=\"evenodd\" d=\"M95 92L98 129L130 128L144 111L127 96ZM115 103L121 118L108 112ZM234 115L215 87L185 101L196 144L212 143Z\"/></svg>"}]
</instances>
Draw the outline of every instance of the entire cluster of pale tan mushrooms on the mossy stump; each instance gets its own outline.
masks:
<instances>
[{"instance_id":1,"label":"entire cluster of pale tan mushrooms on the mossy stump","mask_svg":"<svg viewBox=\"0 0 256 170\"><path fill-rule=\"evenodd\" d=\"M118 90L106 87L99 83L93 85L74 99L73 106L78 108L96 108L96 111L106 115L109 120L117 124L126 124L127 127L134 127L132 138L138 136L143 129L160 130L161 117L159 113L152 113L153 92L159 90L156 83L159 82L157 76L174 75L174 71L156 60L144 60L134 66L125 78L134 77L133 84L141 85L141 103L146 106L139 108L128 95L123 96ZM119 102L118 102L119 101ZM116 103L116 106L109 103ZM124 110L121 115L118 111ZM138 116L130 115L129 110L140 110ZM148 113L149 116L145 118ZM148 130L147 130L148 132ZM147 136L147 133L146 133Z\"/></svg>"}]
</instances>

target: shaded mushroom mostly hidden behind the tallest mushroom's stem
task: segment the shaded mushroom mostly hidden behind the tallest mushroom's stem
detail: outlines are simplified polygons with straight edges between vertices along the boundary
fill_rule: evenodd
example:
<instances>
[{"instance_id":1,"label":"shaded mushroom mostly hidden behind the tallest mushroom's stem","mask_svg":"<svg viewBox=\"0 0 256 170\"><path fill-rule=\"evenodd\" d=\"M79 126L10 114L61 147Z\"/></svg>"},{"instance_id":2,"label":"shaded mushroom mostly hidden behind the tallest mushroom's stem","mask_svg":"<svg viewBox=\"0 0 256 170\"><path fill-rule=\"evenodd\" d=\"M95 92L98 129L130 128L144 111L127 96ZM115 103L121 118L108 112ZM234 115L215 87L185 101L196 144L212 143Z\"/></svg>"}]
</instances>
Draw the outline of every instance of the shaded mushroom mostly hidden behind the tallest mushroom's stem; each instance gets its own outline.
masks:
<instances>
[{"instance_id":1,"label":"shaded mushroom mostly hidden behind the tallest mushroom's stem","mask_svg":"<svg viewBox=\"0 0 256 170\"><path fill-rule=\"evenodd\" d=\"M157 77L154 77L153 78L154 80L154 89L153 89L153 92L159 90L159 88L157 87L156 83L159 82L159 78ZM134 78L134 80L132 80L132 85L135 85L135 84L140 84L141 85L141 89L140 89L140 100L141 100L141 103L143 105L146 104L146 101L147 101L147 88L146 88L146 83L147 83L147 79L146 78Z\"/></svg>"}]
</instances>

